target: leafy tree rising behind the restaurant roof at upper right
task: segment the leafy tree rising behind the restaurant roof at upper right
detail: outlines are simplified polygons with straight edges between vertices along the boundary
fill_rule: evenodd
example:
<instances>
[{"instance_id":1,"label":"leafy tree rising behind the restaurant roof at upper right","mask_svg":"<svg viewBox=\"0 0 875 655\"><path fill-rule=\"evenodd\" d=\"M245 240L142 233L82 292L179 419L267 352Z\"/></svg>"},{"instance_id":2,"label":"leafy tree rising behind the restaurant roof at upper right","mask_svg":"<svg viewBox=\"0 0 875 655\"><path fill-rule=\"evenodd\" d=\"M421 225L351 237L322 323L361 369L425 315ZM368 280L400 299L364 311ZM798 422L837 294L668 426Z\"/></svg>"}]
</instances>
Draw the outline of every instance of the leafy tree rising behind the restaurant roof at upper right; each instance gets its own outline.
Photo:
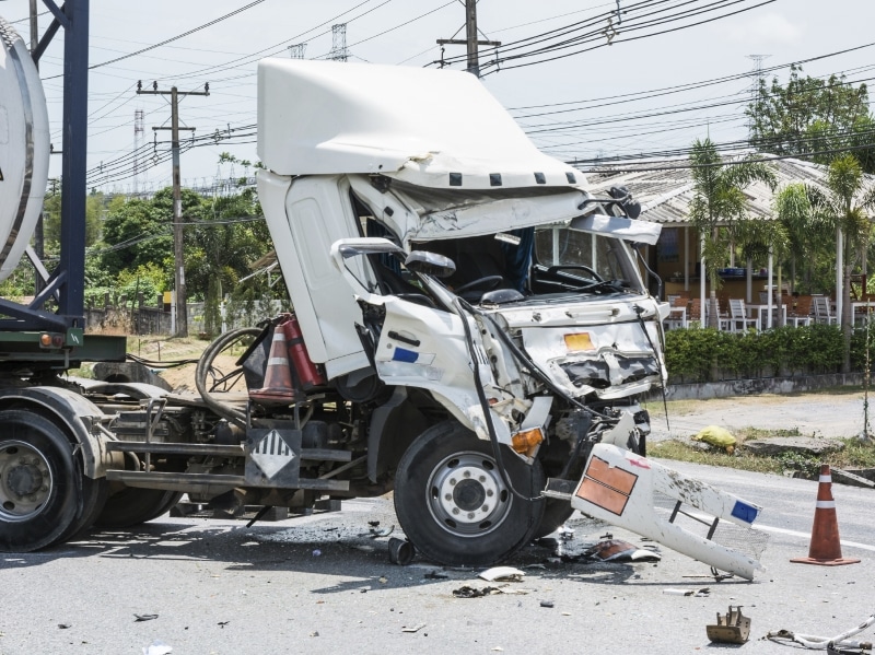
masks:
<instances>
[{"instance_id":1,"label":"leafy tree rising behind the restaurant roof at upper right","mask_svg":"<svg viewBox=\"0 0 875 655\"><path fill-rule=\"evenodd\" d=\"M801 73L801 67L791 67L786 85L778 78L771 87L760 80L757 98L745 110L751 119L750 144L779 155L813 155L821 164L836 151L853 148L863 169L875 172L875 119L866 85L848 84L843 75L821 80Z\"/></svg>"}]
</instances>

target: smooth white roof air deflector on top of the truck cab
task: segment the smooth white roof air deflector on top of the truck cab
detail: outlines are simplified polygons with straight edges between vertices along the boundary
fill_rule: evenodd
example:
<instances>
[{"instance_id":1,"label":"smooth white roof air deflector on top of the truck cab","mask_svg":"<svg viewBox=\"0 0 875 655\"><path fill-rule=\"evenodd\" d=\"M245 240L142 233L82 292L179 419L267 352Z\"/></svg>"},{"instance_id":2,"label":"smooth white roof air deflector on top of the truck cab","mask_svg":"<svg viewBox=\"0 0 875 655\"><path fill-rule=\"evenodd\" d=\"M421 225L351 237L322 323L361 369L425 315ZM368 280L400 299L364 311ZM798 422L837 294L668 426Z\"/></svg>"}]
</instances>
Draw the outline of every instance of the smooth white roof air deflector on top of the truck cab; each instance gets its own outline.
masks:
<instances>
[{"instance_id":1,"label":"smooth white roof air deflector on top of the truck cab","mask_svg":"<svg viewBox=\"0 0 875 655\"><path fill-rule=\"evenodd\" d=\"M470 73L270 58L258 156L279 175L383 174L432 188L583 188Z\"/></svg>"}]
</instances>

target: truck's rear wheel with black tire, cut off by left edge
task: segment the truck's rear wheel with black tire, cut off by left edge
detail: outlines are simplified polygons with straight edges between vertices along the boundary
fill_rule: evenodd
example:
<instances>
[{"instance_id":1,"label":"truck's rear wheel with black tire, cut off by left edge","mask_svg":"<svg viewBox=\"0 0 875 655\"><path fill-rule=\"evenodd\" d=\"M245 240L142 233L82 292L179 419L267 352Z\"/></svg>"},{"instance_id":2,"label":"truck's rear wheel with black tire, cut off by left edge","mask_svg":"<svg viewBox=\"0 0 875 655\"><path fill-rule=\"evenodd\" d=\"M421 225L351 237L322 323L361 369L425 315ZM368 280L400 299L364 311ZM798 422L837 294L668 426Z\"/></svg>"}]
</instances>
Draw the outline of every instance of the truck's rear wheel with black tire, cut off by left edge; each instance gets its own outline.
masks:
<instances>
[{"instance_id":1,"label":"truck's rear wheel with black tire, cut off by left edge","mask_svg":"<svg viewBox=\"0 0 875 655\"><path fill-rule=\"evenodd\" d=\"M0 411L0 551L30 552L69 536L83 516L82 472L67 435L31 411Z\"/></svg>"}]
</instances>

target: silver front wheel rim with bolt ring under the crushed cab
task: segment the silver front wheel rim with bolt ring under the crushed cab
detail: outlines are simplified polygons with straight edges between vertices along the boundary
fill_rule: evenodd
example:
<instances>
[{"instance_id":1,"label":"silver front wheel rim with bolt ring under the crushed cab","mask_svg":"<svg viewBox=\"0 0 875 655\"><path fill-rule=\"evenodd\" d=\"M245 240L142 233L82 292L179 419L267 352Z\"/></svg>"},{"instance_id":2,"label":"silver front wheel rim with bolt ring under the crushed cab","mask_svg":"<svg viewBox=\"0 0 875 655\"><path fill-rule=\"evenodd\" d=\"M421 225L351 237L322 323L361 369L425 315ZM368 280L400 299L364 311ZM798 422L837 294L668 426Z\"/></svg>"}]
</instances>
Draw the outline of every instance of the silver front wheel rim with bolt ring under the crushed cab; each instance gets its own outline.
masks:
<instances>
[{"instance_id":1,"label":"silver front wheel rim with bolt ring under the crushed cab","mask_svg":"<svg viewBox=\"0 0 875 655\"><path fill-rule=\"evenodd\" d=\"M446 531L479 537L508 517L512 495L495 460L482 453L456 453L443 459L429 478L429 510Z\"/></svg>"}]
</instances>

